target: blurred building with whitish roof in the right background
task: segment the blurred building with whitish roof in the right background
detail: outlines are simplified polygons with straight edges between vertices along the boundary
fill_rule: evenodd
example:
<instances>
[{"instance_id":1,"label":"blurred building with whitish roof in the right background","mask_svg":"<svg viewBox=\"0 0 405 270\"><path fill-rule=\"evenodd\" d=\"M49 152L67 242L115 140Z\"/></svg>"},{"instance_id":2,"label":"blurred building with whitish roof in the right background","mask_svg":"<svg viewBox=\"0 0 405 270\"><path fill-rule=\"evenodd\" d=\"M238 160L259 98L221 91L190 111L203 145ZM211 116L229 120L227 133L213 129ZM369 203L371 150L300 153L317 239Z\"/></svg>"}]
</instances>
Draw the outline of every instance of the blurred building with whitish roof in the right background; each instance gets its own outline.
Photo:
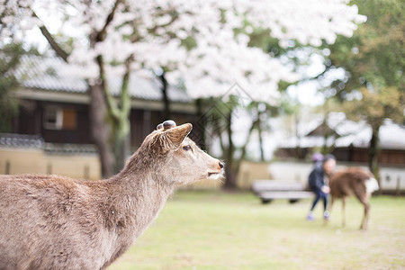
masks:
<instances>
[{"instance_id":1,"label":"blurred building with whitish roof in the right background","mask_svg":"<svg viewBox=\"0 0 405 270\"><path fill-rule=\"evenodd\" d=\"M371 127L365 121L349 121L343 112L331 112L328 119L306 123L300 138L285 139L278 145L279 158L310 157L322 148L331 149L338 161L367 163ZM405 166L405 126L387 119L380 128L379 163Z\"/></svg>"}]
</instances>

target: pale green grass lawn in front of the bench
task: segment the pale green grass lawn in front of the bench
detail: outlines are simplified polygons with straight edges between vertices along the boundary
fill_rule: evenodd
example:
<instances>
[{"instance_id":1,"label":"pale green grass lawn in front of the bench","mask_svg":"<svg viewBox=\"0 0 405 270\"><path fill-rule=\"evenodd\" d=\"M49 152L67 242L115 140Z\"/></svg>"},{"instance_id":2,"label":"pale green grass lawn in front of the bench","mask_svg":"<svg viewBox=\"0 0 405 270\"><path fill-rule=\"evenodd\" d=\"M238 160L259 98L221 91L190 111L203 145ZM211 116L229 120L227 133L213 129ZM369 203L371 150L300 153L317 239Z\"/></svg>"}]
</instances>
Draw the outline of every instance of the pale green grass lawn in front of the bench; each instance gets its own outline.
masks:
<instances>
[{"instance_id":1,"label":"pale green grass lawn in front of the bench","mask_svg":"<svg viewBox=\"0 0 405 270\"><path fill-rule=\"evenodd\" d=\"M341 202L328 226L321 203L317 220L305 220L311 201L263 205L251 193L185 192L168 200L157 220L112 269L404 269L405 198L371 199L368 231L363 208Z\"/></svg>"}]
</instances>

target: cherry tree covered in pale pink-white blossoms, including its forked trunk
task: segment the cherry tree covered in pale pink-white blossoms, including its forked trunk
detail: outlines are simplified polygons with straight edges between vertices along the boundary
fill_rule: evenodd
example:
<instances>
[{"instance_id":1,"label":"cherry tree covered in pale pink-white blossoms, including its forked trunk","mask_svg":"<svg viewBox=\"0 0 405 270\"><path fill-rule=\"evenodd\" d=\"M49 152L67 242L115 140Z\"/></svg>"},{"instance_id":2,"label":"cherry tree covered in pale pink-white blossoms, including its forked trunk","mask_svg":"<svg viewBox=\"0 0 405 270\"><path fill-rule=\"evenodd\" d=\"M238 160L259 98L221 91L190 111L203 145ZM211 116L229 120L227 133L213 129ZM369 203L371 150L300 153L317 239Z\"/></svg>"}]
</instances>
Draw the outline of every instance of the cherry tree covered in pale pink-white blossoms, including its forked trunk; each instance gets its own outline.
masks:
<instances>
[{"instance_id":1,"label":"cherry tree covered in pale pink-white blossoms, including its forked trunk","mask_svg":"<svg viewBox=\"0 0 405 270\"><path fill-rule=\"evenodd\" d=\"M338 34L350 36L364 21L348 0L0 0L2 42L40 29L50 48L87 79L105 176L124 162L133 70L160 68L169 83L182 80L195 98L225 94L238 83L255 101L277 103L280 80L298 77L250 46L249 33L268 30L284 47L289 40L320 46ZM112 76L121 76L118 99L108 89Z\"/></svg>"}]
</instances>

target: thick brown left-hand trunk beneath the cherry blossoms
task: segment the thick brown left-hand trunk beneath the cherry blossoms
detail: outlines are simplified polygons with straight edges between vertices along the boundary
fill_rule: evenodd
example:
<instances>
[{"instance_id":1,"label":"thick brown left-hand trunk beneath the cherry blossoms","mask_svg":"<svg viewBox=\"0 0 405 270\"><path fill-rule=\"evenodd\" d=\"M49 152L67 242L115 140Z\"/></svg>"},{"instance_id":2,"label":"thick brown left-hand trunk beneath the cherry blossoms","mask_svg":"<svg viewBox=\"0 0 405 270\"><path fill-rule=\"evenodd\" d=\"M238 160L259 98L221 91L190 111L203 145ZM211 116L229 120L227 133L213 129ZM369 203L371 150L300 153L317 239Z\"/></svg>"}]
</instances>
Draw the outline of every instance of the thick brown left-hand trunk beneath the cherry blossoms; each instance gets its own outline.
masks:
<instances>
[{"instance_id":1,"label":"thick brown left-hand trunk beneath the cherry blossoms","mask_svg":"<svg viewBox=\"0 0 405 270\"><path fill-rule=\"evenodd\" d=\"M94 144L98 149L103 178L112 176L114 158L110 147L111 128L106 122L106 105L101 85L89 85L90 130Z\"/></svg>"}]
</instances>

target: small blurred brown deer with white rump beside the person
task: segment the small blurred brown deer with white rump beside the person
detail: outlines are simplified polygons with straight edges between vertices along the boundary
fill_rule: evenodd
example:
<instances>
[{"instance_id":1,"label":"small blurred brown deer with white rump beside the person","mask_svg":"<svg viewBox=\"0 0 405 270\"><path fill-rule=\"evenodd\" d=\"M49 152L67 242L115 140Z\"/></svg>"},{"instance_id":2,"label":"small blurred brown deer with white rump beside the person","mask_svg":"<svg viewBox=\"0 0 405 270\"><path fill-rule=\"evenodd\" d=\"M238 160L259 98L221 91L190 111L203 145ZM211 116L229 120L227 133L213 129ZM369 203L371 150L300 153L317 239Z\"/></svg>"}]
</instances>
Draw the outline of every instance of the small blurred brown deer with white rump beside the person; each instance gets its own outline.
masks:
<instances>
[{"instance_id":1,"label":"small blurred brown deer with white rump beside the person","mask_svg":"<svg viewBox=\"0 0 405 270\"><path fill-rule=\"evenodd\" d=\"M346 199L348 196L355 195L365 206L365 215L360 229L367 229L370 211L370 203L368 200L371 194L379 189L374 175L359 167L347 168L346 170L331 175L329 186L331 195L329 211L332 209L333 202L335 202L336 199L342 199L342 226L346 225Z\"/></svg>"}]
</instances>

